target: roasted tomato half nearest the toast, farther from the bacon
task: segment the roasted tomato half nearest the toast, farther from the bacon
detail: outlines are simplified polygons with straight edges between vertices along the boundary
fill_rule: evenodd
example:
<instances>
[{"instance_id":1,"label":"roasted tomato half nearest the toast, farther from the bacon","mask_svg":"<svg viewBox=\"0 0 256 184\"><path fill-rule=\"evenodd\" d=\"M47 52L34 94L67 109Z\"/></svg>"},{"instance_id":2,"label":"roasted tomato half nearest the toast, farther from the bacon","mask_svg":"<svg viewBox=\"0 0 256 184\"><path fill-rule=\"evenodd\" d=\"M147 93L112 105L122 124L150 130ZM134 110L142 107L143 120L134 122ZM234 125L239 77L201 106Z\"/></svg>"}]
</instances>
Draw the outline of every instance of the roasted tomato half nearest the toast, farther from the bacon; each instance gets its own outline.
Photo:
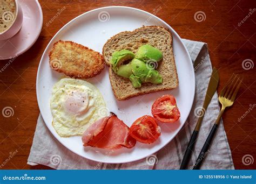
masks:
<instances>
[{"instance_id":1,"label":"roasted tomato half nearest the toast, farther from the bacon","mask_svg":"<svg viewBox=\"0 0 256 184\"><path fill-rule=\"evenodd\" d=\"M163 123L173 123L180 118L176 100L172 95L163 95L152 105L152 115Z\"/></svg>"}]
</instances>

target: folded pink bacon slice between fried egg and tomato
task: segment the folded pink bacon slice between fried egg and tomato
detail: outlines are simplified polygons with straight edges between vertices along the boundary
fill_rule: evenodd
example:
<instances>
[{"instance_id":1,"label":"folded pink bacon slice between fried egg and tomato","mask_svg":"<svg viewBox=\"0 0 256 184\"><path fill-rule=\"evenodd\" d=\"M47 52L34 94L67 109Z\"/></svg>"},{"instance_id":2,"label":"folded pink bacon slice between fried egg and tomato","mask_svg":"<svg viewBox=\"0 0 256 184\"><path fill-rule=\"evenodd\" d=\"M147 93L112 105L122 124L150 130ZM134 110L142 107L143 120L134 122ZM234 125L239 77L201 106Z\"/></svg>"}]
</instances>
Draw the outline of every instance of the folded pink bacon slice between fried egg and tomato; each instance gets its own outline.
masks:
<instances>
[{"instance_id":1,"label":"folded pink bacon slice between fried egg and tomato","mask_svg":"<svg viewBox=\"0 0 256 184\"><path fill-rule=\"evenodd\" d=\"M135 146L136 140L129 135L129 127L111 113L93 123L82 136L84 146L118 149Z\"/></svg>"}]
</instances>

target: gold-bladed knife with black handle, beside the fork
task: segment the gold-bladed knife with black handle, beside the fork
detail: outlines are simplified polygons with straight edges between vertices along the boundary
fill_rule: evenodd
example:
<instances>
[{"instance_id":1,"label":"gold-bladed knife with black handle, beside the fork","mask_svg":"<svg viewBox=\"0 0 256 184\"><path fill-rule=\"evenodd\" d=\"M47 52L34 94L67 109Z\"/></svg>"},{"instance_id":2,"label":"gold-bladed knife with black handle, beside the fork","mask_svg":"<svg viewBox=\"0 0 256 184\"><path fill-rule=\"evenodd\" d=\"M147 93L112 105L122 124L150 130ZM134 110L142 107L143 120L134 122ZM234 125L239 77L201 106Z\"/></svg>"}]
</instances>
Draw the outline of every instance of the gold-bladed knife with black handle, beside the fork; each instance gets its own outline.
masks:
<instances>
[{"instance_id":1,"label":"gold-bladed knife with black handle, beside the fork","mask_svg":"<svg viewBox=\"0 0 256 184\"><path fill-rule=\"evenodd\" d=\"M196 128L194 128L194 131L190 138L190 142L187 145L186 152L184 154L183 160L180 165L180 169L186 169L186 167L187 167L188 161L190 160L192 150L194 148L194 143L196 142L197 135L198 135L198 132L201 127L201 122L203 121L208 104L210 103L212 96L214 95L214 93L217 89L218 83L219 83L219 74L218 74L217 69L215 67L213 67L212 76L211 76L210 82L208 84L208 88L207 88L206 95L205 95L204 105L201 108L201 110L197 113L199 115L197 125L196 125Z\"/></svg>"}]
</instances>

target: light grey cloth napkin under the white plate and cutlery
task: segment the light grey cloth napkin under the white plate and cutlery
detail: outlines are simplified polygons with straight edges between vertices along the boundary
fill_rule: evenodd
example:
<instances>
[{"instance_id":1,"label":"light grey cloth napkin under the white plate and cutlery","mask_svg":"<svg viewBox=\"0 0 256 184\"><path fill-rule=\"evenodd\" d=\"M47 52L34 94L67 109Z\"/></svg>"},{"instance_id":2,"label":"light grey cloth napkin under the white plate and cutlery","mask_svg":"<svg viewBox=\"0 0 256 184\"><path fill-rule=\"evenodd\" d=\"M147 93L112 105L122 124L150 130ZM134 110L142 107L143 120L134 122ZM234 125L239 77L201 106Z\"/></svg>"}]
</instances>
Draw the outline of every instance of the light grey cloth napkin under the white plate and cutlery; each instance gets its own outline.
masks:
<instances>
[{"instance_id":1,"label":"light grey cloth napkin under the white plate and cutlery","mask_svg":"<svg viewBox=\"0 0 256 184\"><path fill-rule=\"evenodd\" d=\"M42 164L56 169L179 169L186 146L197 123L198 117L194 112L203 106L204 96L212 73L207 44L186 39L183 39L183 43L188 49L192 61L196 63L194 64L196 95L183 129L164 148L151 155L151 157L126 164L104 164L91 161L69 151L60 144L46 127L42 116L39 115L28 164ZM196 161L218 114L219 103L217 93L215 93L203 119L188 169L191 169ZM222 121L212 141L210 153L205 158L201 169L234 169L230 146Z\"/></svg>"}]
</instances>

